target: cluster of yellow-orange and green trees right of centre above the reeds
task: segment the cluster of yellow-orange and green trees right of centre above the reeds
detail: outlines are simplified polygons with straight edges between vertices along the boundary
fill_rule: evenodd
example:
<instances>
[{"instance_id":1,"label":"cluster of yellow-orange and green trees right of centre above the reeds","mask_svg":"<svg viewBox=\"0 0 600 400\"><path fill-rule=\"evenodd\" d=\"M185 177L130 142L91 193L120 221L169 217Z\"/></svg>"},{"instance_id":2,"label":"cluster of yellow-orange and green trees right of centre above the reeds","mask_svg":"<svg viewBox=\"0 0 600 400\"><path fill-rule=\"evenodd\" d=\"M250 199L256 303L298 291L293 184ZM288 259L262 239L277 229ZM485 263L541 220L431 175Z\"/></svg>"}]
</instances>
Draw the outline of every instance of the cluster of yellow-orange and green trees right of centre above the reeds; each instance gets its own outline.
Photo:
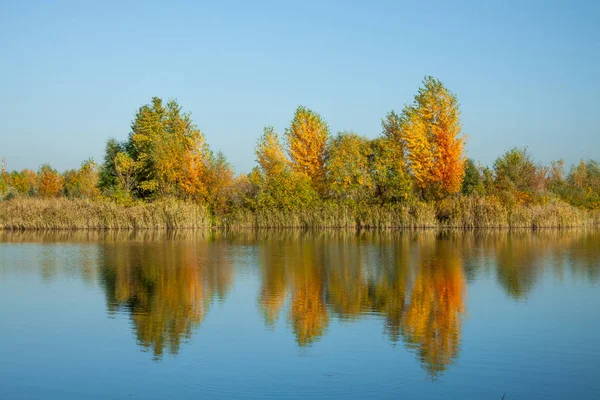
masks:
<instances>
[{"instance_id":1,"label":"cluster of yellow-orange and green trees right of centre above the reeds","mask_svg":"<svg viewBox=\"0 0 600 400\"><path fill-rule=\"evenodd\" d=\"M319 114L298 107L285 131L287 157L272 128L257 143L259 166L250 181L258 203L284 209L315 198L388 203L460 190L465 157L458 101L440 81L425 78L414 103L401 115L390 112L382 126L374 140L352 132L331 137ZM281 198L277 190L284 186L298 187L287 195L299 201Z\"/></svg>"}]
</instances>

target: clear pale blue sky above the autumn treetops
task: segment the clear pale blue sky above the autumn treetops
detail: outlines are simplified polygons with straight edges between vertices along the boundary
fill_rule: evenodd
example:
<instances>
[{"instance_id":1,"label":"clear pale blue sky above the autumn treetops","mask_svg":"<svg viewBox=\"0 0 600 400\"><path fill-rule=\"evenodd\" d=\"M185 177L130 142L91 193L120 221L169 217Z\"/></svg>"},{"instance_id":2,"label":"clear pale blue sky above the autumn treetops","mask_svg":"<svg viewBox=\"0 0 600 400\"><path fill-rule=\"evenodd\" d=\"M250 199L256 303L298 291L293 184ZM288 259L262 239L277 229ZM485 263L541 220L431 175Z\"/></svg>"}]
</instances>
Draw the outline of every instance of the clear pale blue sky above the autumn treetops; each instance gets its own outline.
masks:
<instances>
[{"instance_id":1,"label":"clear pale blue sky above the autumn treetops","mask_svg":"<svg viewBox=\"0 0 600 400\"><path fill-rule=\"evenodd\" d=\"M597 1L0 0L0 156L101 162L158 96L244 173L299 105L373 138L432 75L484 165L514 146L600 159L599 20Z\"/></svg>"}]
</instances>

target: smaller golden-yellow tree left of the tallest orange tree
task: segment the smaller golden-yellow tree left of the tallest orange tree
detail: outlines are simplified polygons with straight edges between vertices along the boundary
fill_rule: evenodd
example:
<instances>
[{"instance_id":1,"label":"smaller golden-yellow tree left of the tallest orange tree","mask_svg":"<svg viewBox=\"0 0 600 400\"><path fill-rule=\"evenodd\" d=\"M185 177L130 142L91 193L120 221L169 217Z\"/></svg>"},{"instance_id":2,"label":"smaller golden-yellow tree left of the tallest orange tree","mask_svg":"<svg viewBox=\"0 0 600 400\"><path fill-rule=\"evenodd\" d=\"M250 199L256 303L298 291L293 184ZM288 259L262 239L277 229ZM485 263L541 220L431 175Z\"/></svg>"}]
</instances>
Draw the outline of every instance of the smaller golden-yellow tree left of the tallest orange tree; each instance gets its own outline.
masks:
<instances>
[{"instance_id":1,"label":"smaller golden-yellow tree left of the tallest orange tree","mask_svg":"<svg viewBox=\"0 0 600 400\"><path fill-rule=\"evenodd\" d=\"M322 189L329 127L321 116L300 106L285 131L294 171L305 173L315 188Z\"/></svg>"}]
</instances>

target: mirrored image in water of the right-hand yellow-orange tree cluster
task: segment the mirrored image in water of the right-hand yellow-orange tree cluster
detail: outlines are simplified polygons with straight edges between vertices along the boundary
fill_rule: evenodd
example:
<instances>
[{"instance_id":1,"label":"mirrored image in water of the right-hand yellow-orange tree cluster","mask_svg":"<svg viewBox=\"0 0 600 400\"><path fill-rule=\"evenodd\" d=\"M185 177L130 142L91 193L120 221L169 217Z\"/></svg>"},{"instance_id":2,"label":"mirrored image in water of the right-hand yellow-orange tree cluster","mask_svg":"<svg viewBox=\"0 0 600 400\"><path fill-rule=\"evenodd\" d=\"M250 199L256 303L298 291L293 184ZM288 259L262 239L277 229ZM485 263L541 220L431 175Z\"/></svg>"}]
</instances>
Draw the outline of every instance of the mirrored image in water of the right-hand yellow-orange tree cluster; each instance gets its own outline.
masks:
<instances>
[{"instance_id":1,"label":"mirrored image in water of the right-hand yellow-orange tree cluster","mask_svg":"<svg viewBox=\"0 0 600 400\"><path fill-rule=\"evenodd\" d=\"M433 233L373 241L272 240L261 247L259 305L272 326L291 292L290 322L300 346L324 333L331 315L385 317L393 341L415 349L432 377L458 357L466 283L462 246Z\"/></svg>"}]
</instances>

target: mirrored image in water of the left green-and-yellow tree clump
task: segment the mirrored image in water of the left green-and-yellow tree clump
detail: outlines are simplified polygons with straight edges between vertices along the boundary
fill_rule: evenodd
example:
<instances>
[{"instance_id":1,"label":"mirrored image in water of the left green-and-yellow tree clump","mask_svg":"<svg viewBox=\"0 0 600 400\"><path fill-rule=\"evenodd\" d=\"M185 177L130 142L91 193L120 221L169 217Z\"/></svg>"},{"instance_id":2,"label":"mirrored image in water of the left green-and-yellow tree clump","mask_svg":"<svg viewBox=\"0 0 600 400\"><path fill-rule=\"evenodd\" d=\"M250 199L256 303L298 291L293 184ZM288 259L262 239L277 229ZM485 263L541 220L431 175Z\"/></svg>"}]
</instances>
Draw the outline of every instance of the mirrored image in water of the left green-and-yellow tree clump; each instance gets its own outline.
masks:
<instances>
[{"instance_id":1,"label":"mirrored image in water of the left green-and-yellow tree clump","mask_svg":"<svg viewBox=\"0 0 600 400\"><path fill-rule=\"evenodd\" d=\"M232 272L224 243L165 241L104 247L100 266L109 312L130 314L138 343L160 359L181 342L224 297Z\"/></svg>"}]
</instances>

